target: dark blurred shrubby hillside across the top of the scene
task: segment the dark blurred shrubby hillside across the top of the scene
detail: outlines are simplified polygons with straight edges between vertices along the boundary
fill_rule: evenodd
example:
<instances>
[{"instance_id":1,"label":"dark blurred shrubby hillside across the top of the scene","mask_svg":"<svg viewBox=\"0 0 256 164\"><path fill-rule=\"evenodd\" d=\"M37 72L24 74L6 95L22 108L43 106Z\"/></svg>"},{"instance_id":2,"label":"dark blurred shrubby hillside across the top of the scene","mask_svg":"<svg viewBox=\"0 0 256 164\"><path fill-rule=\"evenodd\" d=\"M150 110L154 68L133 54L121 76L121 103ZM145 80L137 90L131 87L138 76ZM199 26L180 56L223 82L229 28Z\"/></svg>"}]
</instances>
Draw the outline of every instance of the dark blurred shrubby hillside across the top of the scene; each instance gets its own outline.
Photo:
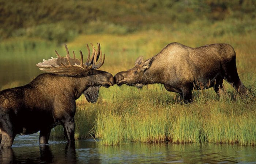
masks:
<instances>
[{"instance_id":1,"label":"dark blurred shrubby hillside across the top of the scene","mask_svg":"<svg viewBox=\"0 0 256 164\"><path fill-rule=\"evenodd\" d=\"M80 34L256 29L255 0L0 0L0 40L40 38L63 43Z\"/></svg>"}]
</instances>

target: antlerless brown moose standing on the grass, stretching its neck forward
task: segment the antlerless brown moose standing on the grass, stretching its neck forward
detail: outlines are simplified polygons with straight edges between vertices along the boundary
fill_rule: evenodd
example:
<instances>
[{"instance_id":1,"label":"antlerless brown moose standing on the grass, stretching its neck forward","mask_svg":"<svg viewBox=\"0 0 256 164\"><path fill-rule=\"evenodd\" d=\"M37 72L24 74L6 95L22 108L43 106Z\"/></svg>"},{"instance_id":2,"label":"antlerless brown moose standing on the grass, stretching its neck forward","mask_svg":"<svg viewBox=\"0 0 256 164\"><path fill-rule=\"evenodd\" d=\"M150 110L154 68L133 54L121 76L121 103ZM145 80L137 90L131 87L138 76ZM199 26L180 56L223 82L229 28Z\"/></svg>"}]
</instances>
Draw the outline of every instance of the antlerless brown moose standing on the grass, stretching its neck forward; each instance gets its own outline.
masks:
<instances>
[{"instance_id":1,"label":"antlerless brown moose standing on the grass, stretching its neck forward","mask_svg":"<svg viewBox=\"0 0 256 164\"><path fill-rule=\"evenodd\" d=\"M191 48L170 43L157 55L143 61L140 56L135 66L114 76L116 84L143 85L160 83L167 91L179 93L186 102L192 100L192 89L214 88L219 94L223 79L236 91L246 95L247 88L239 79L236 52L229 44L210 44Z\"/></svg>"}]
</instances>

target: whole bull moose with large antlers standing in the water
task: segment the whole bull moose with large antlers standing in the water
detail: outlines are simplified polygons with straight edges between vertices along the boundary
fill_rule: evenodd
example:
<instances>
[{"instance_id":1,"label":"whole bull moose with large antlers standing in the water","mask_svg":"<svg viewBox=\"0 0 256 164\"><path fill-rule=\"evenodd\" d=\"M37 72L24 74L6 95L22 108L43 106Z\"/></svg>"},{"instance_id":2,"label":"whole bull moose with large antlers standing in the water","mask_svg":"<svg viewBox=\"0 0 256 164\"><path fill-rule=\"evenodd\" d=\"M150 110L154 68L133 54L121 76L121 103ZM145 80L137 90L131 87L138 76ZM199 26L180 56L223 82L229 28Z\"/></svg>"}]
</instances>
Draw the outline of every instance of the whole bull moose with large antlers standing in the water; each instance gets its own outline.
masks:
<instances>
[{"instance_id":1,"label":"whole bull moose with large antlers standing in the water","mask_svg":"<svg viewBox=\"0 0 256 164\"><path fill-rule=\"evenodd\" d=\"M98 94L100 86L107 88L115 83L109 72L96 70L103 65L105 54L102 58L99 43L97 51L92 47L90 57L87 44L88 57L83 63L82 51L81 60L75 58L74 51L74 58L71 58L65 45L66 57L55 51L57 58L37 64L40 70L48 73L38 75L22 87L0 92L0 148L11 147L17 134L38 131L39 143L46 144L51 129L59 124L63 126L67 140L74 142L75 100L84 93L87 100L95 102L97 98L91 98Z\"/></svg>"}]
</instances>

